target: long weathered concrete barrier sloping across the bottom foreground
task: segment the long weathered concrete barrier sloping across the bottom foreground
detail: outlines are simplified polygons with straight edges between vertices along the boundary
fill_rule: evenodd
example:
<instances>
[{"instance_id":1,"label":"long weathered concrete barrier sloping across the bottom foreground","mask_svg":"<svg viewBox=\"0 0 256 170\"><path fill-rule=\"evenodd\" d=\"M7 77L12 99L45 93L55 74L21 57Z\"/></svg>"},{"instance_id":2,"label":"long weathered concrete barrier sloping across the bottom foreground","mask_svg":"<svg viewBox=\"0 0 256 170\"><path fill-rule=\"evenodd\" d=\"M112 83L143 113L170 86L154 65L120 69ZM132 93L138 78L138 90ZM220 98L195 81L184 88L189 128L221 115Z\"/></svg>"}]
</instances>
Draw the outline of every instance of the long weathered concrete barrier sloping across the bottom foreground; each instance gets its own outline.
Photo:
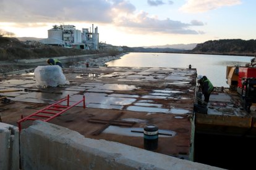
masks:
<instances>
[{"instance_id":1,"label":"long weathered concrete barrier sloping across the bottom foreground","mask_svg":"<svg viewBox=\"0 0 256 170\"><path fill-rule=\"evenodd\" d=\"M43 121L20 134L22 169L220 169L106 140Z\"/></svg>"}]
</instances>

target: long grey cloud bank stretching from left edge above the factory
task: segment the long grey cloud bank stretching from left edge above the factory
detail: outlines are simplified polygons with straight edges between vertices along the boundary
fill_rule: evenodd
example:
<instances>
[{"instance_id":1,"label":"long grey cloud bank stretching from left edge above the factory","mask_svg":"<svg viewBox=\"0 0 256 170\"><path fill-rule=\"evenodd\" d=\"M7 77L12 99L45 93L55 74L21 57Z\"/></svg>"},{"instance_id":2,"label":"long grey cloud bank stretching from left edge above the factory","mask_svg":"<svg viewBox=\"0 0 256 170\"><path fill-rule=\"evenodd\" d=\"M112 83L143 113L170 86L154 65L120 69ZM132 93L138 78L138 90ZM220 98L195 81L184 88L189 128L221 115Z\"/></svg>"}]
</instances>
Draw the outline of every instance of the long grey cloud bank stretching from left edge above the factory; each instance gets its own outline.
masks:
<instances>
[{"instance_id":1,"label":"long grey cloud bank stretching from left edge above the factory","mask_svg":"<svg viewBox=\"0 0 256 170\"><path fill-rule=\"evenodd\" d=\"M161 0L147 2L151 6L164 4ZM173 4L173 1L168 3ZM15 23L20 28L56 22L94 22L122 26L134 33L168 34L198 34L190 26L203 26L203 22L198 20L184 23L169 18L160 20L158 17L151 17L145 11L138 11L127 0L1 0L0 22Z\"/></svg>"}]
</instances>

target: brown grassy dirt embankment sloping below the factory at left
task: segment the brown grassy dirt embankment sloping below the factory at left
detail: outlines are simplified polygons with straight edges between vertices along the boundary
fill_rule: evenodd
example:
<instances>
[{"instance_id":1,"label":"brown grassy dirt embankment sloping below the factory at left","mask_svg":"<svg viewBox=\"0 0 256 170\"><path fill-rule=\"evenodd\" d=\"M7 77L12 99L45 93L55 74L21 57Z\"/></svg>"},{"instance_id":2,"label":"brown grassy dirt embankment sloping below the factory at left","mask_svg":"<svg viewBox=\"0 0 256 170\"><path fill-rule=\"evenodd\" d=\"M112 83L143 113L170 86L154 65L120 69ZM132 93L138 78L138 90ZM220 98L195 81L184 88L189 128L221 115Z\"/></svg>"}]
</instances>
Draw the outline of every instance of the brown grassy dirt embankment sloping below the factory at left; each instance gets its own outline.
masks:
<instances>
[{"instance_id":1,"label":"brown grassy dirt embankment sloping below the factory at left","mask_svg":"<svg viewBox=\"0 0 256 170\"><path fill-rule=\"evenodd\" d=\"M0 73L9 73L24 69L32 69L38 63L19 63L19 60L48 59L51 57L98 54L98 56L116 55L111 51L90 51L67 49L59 46L48 46L37 41L22 42L16 38L0 37ZM45 61L45 60L44 60ZM46 62L40 65L47 65Z\"/></svg>"}]
</instances>

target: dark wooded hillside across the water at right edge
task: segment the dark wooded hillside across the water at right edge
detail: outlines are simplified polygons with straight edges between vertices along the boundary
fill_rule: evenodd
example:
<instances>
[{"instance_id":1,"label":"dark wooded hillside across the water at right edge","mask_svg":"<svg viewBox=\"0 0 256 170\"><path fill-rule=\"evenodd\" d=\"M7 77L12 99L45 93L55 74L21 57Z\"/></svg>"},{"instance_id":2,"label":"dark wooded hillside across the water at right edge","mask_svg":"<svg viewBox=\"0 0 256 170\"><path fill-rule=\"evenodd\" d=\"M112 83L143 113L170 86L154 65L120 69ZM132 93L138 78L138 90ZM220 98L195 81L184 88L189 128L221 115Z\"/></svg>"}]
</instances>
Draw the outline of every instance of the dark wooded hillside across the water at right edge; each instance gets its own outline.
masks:
<instances>
[{"instance_id":1,"label":"dark wooded hillside across the water at right edge","mask_svg":"<svg viewBox=\"0 0 256 170\"><path fill-rule=\"evenodd\" d=\"M214 41L207 41L192 49L192 52L199 52L204 54L256 54L256 40L242 40L242 39L220 39Z\"/></svg>"}]
</instances>

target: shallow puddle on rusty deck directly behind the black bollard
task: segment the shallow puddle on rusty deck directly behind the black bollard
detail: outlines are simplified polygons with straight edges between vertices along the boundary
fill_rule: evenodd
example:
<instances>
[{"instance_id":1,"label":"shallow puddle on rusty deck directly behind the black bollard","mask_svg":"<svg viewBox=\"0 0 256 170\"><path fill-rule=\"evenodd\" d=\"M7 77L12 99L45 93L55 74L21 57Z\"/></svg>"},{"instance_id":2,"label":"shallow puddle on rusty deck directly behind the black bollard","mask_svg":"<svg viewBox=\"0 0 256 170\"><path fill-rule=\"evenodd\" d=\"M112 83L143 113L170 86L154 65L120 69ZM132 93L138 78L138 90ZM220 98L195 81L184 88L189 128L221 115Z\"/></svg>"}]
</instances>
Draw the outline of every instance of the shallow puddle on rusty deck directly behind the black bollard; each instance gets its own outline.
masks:
<instances>
[{"instance_id":1,"label":"shallow puddle on rusty deck directly behind the black bollard","mask_svg":"<svg viewBox=\"0 0 256 170\"><path fill-rule=\"evenodd\" d=\"M103 131L106 134L117 134L122 136L134 136L134 137L143 137L143 128L141 127L118 127L118 126L109 126ZM139 132L132 132L139 131ZM166 129L159 129L158 133L168 134L168 135L158 135L158 137L174 137L176 132Z\"/></svg>"}]
</instances>

